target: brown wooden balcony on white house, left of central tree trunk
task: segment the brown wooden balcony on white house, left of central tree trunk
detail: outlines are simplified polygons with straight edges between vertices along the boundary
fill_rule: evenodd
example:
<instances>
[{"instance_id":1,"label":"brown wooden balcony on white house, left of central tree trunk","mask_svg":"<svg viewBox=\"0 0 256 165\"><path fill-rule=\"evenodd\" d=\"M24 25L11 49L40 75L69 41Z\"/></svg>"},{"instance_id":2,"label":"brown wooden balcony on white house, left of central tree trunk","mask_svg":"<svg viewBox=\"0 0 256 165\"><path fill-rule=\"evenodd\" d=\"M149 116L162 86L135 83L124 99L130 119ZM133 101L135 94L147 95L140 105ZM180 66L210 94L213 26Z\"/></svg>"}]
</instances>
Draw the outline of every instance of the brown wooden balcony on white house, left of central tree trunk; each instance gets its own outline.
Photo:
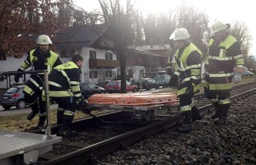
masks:
<instances>
[{"instance_id":1,"label":"brown wooden balcony on white house, left of central tree trunk","mask_svg":"<svg viewBox=\"0 0 256 165\"><path fill-rule=\"evenodd\" d=\"M89 59L89 67L118 67L118 60Z\"/></svg>"}]
</instances>

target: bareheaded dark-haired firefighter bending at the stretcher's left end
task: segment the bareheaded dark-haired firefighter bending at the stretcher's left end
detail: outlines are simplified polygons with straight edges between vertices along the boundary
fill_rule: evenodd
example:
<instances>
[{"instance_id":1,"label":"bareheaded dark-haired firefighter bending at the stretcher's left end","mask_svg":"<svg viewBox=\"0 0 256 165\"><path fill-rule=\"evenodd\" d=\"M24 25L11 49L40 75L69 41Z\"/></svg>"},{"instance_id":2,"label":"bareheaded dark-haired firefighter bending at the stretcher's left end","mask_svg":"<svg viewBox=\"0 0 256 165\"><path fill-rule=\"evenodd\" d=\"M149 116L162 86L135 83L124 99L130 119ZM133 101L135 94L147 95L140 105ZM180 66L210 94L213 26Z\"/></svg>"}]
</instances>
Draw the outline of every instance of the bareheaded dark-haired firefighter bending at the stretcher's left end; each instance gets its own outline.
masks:
<instances>
[{"instance_id":1,"label":"bareheaded dark-haired firefighter bending at the stretcher's left end","mask_svg":"<svg viewBox=\"0 0 256 165\"><path fill-rule=\"evenodd\" d=\"M76 135L76 132L70 129L75 110L87 106L79 87L82 61L80 54L74 54L72 61L55 67L49 74L49 97L59 105L57 124L61 124L58 132L61 136Z\"/></svg>"}]
</instances>

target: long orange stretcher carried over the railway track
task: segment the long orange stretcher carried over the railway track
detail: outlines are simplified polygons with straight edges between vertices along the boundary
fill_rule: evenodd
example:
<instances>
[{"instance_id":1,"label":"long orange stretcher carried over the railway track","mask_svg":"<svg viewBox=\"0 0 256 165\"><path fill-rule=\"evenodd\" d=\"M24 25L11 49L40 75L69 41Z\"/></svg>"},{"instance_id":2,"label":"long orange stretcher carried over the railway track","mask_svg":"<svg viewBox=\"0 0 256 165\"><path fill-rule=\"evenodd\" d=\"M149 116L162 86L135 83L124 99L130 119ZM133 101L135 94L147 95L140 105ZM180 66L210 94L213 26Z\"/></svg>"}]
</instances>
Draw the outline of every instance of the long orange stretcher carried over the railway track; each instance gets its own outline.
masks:
<instances>
[{"instance_id":1,"label":"long orange stretcher carried over the railway track","mask_svg":"<svg viewBox=\"0 0 256 165\"><path fill-rule=\"evenodd\" d=\"M111 104L116 106L149 106L179 103L176 93L159 94L95 94L88 98L89 104Z\"/></svg>"}]
</instances>

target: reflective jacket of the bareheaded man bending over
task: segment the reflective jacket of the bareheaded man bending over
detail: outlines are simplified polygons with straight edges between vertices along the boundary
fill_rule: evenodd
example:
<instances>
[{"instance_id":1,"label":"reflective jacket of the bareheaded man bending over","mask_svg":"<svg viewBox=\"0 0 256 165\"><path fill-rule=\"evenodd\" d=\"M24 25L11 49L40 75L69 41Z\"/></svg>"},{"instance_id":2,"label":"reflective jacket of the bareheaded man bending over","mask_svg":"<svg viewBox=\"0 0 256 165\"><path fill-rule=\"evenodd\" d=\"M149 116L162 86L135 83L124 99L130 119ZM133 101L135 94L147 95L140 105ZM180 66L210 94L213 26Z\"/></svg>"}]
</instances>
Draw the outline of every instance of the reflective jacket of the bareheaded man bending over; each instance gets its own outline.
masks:
<instances>
[{"instance_id":1,"label":"reflective jacket of the bareheaded man bending over","mask_svg":"<svg viewBox=\"0 0 256 165\"><path fill-rule=\"evenodd\" d=\"M49 96L50 97L72 97L80 102L82 95L80 91L81 70L72 61L61 64L49 74Z\"/></svg>"}]
</instances>

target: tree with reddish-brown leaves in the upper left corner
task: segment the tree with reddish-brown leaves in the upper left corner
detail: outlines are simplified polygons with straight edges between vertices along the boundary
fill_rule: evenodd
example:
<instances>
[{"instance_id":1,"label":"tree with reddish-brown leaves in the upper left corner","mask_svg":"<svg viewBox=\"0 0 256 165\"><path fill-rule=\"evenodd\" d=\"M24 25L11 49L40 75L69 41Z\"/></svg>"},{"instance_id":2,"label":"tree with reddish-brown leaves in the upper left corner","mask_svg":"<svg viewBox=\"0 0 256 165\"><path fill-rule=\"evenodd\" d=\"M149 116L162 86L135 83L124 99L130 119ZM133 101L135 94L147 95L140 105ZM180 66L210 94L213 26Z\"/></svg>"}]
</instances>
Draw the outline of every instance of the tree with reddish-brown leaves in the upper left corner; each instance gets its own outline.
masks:
<instances>
[{"instance_id":1,"label":"tree with reddish-brown leaves in the upper left corner","mask_svg":"<svg viewBox=\"0 0 256 165\"><path fill-rule=\"evenodd\" d=\"M0 52L21 57L35 45L33 35L52 35L58 26L58 7L70 0L2 0L0 2Z\"/></svg>"}]
</instances>

